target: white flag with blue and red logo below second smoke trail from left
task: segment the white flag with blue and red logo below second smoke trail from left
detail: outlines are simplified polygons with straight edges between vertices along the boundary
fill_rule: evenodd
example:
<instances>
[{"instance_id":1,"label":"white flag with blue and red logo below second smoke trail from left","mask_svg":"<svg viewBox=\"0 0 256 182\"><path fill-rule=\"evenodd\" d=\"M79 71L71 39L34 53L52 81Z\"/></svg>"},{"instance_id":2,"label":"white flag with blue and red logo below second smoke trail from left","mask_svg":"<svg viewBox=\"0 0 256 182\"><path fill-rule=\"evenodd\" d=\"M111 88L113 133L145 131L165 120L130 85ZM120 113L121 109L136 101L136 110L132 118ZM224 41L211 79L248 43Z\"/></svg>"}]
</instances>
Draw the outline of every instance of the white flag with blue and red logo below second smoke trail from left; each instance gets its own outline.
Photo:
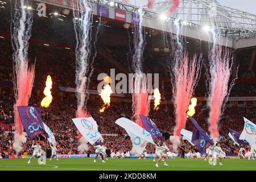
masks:
<instances>
[{"instance_id":1,"label":"white flag with blue and red logo below second smoke trail from left","mask_svg":"<svg viewBox=\"0 0 256 182\"><path fill-rule=\"evenodd\" d=\"M82 136L84 136L84 138L86 138L86 140L90 142L90 144L95 143L97 140L103 141L100 132L98 132L97 122L92 117L75 118L72 119L72 121L74 122Z\"/></svg>"}]
</instances>

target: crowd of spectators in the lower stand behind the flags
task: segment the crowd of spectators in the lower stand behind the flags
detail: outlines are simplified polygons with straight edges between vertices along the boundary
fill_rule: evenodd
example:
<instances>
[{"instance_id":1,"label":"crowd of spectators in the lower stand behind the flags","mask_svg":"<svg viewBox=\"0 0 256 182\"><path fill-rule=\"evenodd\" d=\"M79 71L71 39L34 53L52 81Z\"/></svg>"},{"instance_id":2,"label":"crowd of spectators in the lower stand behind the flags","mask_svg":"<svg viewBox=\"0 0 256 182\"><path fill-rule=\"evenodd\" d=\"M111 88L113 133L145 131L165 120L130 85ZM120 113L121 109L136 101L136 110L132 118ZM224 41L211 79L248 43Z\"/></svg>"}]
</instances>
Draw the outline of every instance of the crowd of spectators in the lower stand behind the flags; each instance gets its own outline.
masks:
<instances>
[{"instance_id":1,"label":"crowd of spectators in the lower stand behind the flags","mask_svg":"<svg viewBox=\"0 0 256 182\"><path fill-rule=\"evenodd\" d=\"M13 113L13 103L14 98L11 96L7 96L7 94L1 94L1 102L0 107L4 107L1 112L4 113ZM40 105L40 100L42 100L43 96L38 96L33 93L30 99L30 104ZM132 143L130 138L127 136L125 130L116 125L114 122L122 117L121 114L132 115L131 103L130 102L112 102L110 107L108 107L104 113L100 112L100 108L102 106L101 100L89 100L88 101L88 111L92 115L92 117L97 121L98 130L104 136L104 142L106 146L108 146L113 151L130 151L132 148ZM1 107L1 108L2 108ZM57 148L59 154L79 154L81 151L78 150L78 146L80 142L77 138L77 129L72 122L72 118L75 118L76 111L76 98L71 96L60 97L53 94L52 104L48 108L43 109L43 122L49 126L49 128L53 131L56 141ZM196 114L194 115L195 119L199 123L199 125L208 130L208 110L205 105L197 105L196 106ZM237 105L233 105L231 107L226 107L224 114L222 115L222 119L220 121L220 135L225 137L224 143L226 143L228 129L233 129L236 131L242 131L243 129L243 119L242 117L246 117L251 121L255 121L256 119L256 107L254 105L247 105L243 107L238 107ZM6 115L6 114L5 114ZM154 120L156 125L159 127L159 130L162 133L172 134L173 129L175 127L174 121L174 107L170 104L162 104L159 107L159 110L154 110L153 104L151 104L149 117ZM13 118L13 115L12 115ZM8 120L2 119L1 121L9 122ZM13 125L13 119L11 121ZM187 125L185 127L187 130L193 130L193 124L191 121L187 121ZM1 127L0 127L1 129ZM7 131L14 131L14 127L10 127ZM115 134L115 135L108 135ZM8 152L9 154L14 154L13 150L13 133L3 133L1 131L0 138L2 138L1 150ZM41 138L42 139L42 138ZM37 139L36 139L37 140ZM49 149L49 145L47 144L47 140L43 139L43 146L46 149ZM230 142L228 140L228 142ZM168 142L170 143L170 140ZM230 142L232 144L232 142ZM229 145L223 144L226 152L234 152L237 150L235 146L232 147ZM23 150L20 151L20 154L31 154L31 140L27 138L27 142L23 145ZM188 148L191 150L191 148ZM89 146L88 152L93 153L94 149L92 146ZM147 152L154 152L154 146L148 144Z\"/></svg>"}]
</instances>

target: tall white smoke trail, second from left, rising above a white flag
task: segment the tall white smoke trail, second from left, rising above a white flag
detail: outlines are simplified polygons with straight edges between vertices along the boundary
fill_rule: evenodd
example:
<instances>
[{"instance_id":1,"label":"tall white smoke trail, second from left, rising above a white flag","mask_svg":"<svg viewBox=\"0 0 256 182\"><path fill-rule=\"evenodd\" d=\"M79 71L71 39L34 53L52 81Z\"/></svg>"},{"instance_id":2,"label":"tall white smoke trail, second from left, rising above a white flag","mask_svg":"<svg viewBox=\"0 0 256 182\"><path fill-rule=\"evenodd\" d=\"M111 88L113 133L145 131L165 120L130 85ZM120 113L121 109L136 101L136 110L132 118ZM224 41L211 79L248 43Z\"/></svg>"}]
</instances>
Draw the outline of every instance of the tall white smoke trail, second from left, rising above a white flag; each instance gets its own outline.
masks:
<instances>
[{"instance_id":1,"label":"tall white smoke trail, second from left, rising above a white flag","mask_svg":"<svg viewBox=\"0 0 256 182\"><path fill-rule=\"evenodd\" d=\"M77 11L76 11L77 9ZM77 111L86 101L86 85L89 81L89 59L91 53L92 14L87 1L73 3L74 29L76 34L76 96Z\"/></svg>"}]
</instances>

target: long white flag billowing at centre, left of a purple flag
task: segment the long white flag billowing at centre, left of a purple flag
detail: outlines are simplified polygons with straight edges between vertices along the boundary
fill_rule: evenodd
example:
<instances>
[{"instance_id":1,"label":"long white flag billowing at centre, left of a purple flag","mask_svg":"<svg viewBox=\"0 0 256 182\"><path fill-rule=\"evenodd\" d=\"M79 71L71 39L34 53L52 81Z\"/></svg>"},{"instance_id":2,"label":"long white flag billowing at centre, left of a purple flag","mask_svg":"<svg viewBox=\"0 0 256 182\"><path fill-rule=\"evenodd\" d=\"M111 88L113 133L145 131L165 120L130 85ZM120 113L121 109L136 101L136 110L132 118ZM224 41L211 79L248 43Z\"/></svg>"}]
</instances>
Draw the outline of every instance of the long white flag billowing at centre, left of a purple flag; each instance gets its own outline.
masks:
<instances>
[{"instance_id":1,"label":"long white flag billowing at centre, left of a purple flag","mask_svg":"<svg viewBox=\"0 0 256 182\"><path fill-rule=\"evenodd\" d=\"M117 121L115 121L115 123L121 127L123 127L123 129L125 129L126 131L128 131L129 133L135 135L135 137L139 137L141 139L146 140L147 142L150 142L152 144L155 144L151 134L148 133L146 130L144 130L141 126L139 126L137 123L131 121L130 119L127 118L119 118L117 119ZM131 137L131 136L130 136ZM138 139L138 138L137 138Z\"/></svg>"}]
</instances>

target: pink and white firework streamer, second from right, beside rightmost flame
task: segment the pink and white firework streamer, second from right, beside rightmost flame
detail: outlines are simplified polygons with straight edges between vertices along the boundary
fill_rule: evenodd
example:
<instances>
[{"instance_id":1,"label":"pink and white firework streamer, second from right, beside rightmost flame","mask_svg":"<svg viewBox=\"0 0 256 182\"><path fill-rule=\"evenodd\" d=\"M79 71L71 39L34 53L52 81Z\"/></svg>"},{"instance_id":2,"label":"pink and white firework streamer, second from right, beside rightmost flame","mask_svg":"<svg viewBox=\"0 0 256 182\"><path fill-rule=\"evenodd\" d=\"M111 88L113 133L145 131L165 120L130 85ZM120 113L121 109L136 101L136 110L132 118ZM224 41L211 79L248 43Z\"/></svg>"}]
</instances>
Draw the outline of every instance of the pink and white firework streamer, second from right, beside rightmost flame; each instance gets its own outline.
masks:
<instances>
[{"instance_id":1,"label":"pink and white firework streamer, second from right, beside rightmost flame","mask_svg":"<svg viewBox=\"0 0 256 182\"><path fill-rule=\"evenodd\" d=\"M187 121L187 108L200 77L201 55L194 55L189 59L187 51L183 50L180 37L180 18L175 19L175 35L170 35L171 47L174 53L170 55L173 63L168 64L171 73L172 94L174 97L175 128L174 135L170 137L174 150L180 144L180 130L184 129Z\"/></svg>"}]
</instances>

